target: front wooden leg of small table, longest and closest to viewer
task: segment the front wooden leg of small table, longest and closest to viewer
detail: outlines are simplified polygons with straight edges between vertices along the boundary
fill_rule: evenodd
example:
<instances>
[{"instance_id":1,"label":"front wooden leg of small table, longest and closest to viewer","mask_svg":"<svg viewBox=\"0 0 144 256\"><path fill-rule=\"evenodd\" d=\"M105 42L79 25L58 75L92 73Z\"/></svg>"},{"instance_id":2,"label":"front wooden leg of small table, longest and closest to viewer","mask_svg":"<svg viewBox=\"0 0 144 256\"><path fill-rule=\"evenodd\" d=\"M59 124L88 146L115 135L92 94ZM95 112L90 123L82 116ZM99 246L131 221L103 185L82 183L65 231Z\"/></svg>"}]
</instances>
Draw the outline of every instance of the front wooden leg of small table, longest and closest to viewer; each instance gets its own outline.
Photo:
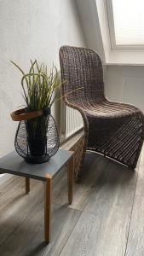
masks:
<instances>
[{"instance_id":1,"label":"front wooden leg of small table, longest and closest to viewer","mask_svg":"<svg viewBox=\"0 0 144 256\"><path fill-rule=\"evenodd\" d=\"M44 198L44 236L45 241L50 241L50 225L51 225L51 176L46 176L45 182L45 198Z\"/></svg>"}]
</instances>

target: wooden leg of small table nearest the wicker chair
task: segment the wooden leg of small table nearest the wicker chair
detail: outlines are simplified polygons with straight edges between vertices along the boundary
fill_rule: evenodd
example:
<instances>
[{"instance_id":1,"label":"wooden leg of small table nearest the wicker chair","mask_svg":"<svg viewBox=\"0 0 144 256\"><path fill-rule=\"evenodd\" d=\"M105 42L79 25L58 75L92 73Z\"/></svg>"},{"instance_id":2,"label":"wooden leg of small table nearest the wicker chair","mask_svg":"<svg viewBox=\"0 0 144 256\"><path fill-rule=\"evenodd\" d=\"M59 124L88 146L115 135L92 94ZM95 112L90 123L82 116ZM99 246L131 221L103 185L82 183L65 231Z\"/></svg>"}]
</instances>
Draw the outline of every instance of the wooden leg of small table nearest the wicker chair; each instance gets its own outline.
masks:
<instances>
[{"instance_id":1,"label":"wooden leg of small table nearest the wicker chair","mask_svg":"<svg viewBox=\"0 0 144 256\"><path fill-rule=\"evenodd\" d=\"M68 162L68 170L67 170L67 179L68 179L68 201L69 204L72 204L73 198L73 168L74 168L74 159L72 157Z\"/></svg>"}]
</instances>

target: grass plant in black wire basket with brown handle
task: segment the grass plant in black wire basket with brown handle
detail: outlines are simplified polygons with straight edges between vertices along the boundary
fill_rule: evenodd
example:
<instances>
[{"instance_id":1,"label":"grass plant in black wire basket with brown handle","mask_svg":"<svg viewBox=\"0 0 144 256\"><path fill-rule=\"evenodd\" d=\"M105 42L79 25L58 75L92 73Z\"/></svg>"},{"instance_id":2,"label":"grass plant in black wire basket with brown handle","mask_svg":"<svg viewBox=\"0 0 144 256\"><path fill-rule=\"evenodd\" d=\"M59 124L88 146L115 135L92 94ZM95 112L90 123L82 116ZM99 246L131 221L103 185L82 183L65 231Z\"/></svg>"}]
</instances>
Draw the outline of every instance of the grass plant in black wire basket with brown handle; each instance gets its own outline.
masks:
<instances>
[{"instance_id":1,"label":"grass plant in black wire basket with brown handle","mask_svg":"<svg viewBox=\"0 0 144 256\"><path fill-rule=\"evenodd\" d=\"M56 90L60 89L60 73L37 61L31 61L28 73L11 61L22 73L21 86L26 108L11 113L13 120L20 121L14 146L26 161L42 163L49 160L59 148L59 137L55 119L51 115L53 103L59 100Z\"/></svg>"}]
</instances>

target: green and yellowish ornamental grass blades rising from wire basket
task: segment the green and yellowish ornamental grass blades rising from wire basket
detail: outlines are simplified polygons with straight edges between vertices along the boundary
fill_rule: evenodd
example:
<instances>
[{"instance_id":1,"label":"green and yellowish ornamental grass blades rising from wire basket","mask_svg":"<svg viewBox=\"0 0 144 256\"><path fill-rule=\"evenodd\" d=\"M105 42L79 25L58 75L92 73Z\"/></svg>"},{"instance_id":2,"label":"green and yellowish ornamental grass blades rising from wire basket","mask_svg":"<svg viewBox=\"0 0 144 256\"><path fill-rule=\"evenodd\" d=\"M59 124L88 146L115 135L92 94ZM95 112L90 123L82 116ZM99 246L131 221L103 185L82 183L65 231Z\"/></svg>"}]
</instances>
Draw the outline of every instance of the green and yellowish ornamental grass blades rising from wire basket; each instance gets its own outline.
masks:
<instances>
[{"instance_id":1,"label":"green and yellowish ornamental grass blades rising from wire basket","mask_svg":"<svg viewBox=\"0 0 144 256\"><path fill-rule=\"evenodd\" d=\"M60 89L60 72L53 65L50 72L46 65L37 61L31 61L31 67L28 73L11 61L15 67L22 73L21 86L23 97L28 111L51 108L53 103L60 99L55 96L56 90Z\"/></svg>"}]
</instances>

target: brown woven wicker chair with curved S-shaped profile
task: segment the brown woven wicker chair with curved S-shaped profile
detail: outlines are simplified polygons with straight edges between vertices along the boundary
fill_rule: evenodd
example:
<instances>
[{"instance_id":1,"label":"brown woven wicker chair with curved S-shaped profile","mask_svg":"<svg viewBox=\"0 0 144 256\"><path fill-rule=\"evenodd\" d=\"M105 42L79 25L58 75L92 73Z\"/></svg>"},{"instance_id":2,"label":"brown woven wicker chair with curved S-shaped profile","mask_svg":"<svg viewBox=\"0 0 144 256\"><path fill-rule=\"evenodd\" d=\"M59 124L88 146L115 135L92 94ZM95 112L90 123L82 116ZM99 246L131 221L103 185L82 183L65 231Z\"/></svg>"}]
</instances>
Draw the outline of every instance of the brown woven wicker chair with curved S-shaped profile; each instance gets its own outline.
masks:
<instances>
[{"instance_id":1,"label":"brown woven wicker chair with curved S-shaped profile","mask_svg":"<svg viewBox=\"0 0 144 256\"><path fill-rule=\"evenodd\" d=\"M62 93L71 108L84 119L83 154L86 149L104 154L135 169L144 139L144 115L130 104L110 102L104 95L101 59L91 49L60 48Z\"/></svg>"}]
</instances>

